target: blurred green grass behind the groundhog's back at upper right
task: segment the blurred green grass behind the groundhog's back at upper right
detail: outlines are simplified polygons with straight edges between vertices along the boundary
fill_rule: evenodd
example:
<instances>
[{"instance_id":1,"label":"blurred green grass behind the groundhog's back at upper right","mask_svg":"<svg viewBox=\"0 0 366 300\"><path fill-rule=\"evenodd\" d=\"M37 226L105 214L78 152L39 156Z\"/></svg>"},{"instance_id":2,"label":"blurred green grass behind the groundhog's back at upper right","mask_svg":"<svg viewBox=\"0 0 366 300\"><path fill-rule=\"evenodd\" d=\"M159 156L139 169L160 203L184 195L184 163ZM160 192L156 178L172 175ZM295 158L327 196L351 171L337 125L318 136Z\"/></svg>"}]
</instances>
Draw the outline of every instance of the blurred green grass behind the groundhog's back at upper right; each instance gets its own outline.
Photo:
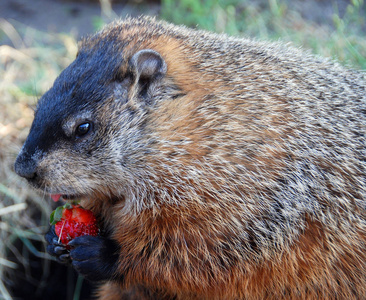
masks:
<instances>
[{"instance_id":1,"label":"blurred green grass behind the groundhog's back at upper right","mask_svg":"<svg viewBox=\"0 0 366 300\"><path fill-rule=\"evenodd\" d=\"M291 10L283 1L249 0L162 0L161 16L189 27L226 32L263 40L282 40L311 49L313 53L337 59L343 64L366 69L366 6L353 0L342 18L334 4L328 23L315 24Z\"/></svg>"}]
</instances>

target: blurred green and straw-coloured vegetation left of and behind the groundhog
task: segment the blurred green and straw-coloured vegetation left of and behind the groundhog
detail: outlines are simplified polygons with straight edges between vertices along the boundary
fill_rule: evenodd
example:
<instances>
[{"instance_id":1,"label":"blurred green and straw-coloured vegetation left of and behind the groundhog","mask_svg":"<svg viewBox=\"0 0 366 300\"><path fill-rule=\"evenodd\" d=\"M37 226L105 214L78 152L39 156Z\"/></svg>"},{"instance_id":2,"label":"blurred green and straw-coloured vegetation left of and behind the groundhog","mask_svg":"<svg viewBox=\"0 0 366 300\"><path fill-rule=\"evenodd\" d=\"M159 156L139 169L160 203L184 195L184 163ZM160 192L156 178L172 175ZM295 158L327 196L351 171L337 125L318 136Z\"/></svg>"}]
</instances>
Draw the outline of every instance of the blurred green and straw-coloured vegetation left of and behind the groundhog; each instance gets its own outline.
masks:
<instances>
[{"instance_id":1,"label":"blurred green and straw-coloured vegetation left of and behind the groundhog","mask_svg":"<svg viewBox=\"0 0 366 300\"><path fill-rule=\"evenodd\" d=\"M108 1L102 2L108 10ZM334 1L328 22L304 18L289 3L162 0L159 17L230 35L280 39L353 68L366 69L363 0L349 1L342 14ZM105 13L112 15L111 11ZM103 23L102 18L95 19L95 29ZM37 99L73 60L76 51L77 41L72 35L51 35L0 19L0 299L11 299L12 295L18 299L29 299L29 295L32 299L57 299L58 295L60 299L76 300L89 293L82 278L70 269L58 269L61 267L45 253L43 234L54 204L47 195L31 190L13 171Z\"/></svg>"}]
</instances>

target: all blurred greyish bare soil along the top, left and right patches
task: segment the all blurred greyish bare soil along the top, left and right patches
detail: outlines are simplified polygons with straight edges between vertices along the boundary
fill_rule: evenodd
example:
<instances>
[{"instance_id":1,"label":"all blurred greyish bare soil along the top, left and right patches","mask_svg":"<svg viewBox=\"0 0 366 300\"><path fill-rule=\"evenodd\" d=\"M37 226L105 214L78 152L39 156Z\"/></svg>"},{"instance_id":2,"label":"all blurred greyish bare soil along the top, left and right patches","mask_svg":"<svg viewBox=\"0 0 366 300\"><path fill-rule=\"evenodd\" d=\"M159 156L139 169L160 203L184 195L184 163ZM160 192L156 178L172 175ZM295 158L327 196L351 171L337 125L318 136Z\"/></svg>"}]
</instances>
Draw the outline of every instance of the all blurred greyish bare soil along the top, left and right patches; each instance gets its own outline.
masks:
<instances>
[{"instance_id":1,"label":"all blurred greyish bare soil along the top, left and right patches","mask_svg":"<svg viewBox=\"0 0 366 300\"><path fill-rule=\"evenodd\" d=\"M103 1L101 1L103 2ZM256 0L267 2L267 0ZM287 6L298 11L304 19L315 23L332 23L335 11L342 15L349 3L347 0L287 0ZM113 12L101 9L99 1L79 0L1 0L0 18L10 23L24 25L47 32L71 33L81 37L95 31L98 19L108 22L116 17L140 14L158 15L156 1L114 1Z\"/></svg>"}]
</instances>

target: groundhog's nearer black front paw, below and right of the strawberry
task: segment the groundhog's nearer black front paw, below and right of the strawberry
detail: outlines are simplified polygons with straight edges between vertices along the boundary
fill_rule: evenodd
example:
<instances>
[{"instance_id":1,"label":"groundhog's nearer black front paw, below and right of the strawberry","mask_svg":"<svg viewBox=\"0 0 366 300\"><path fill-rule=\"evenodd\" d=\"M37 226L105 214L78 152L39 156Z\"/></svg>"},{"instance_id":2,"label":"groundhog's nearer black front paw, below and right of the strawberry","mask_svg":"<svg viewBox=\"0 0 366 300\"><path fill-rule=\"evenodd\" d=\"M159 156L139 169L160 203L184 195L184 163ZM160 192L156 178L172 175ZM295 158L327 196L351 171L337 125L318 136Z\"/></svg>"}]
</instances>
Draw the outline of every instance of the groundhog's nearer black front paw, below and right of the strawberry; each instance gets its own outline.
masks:
<instances>
[{"instance_id":1,"label":"groundhog's nearer black front paw, below and right of the strawberry","mask_svg":"<svg viewBox=\"0 0 366 300\"><path fill-rule=\"evenodd\" d=\"M117 279L118 245L102 236L80 236L69 242L75 270L90 281Z\"/></svg>"}]
</instances>

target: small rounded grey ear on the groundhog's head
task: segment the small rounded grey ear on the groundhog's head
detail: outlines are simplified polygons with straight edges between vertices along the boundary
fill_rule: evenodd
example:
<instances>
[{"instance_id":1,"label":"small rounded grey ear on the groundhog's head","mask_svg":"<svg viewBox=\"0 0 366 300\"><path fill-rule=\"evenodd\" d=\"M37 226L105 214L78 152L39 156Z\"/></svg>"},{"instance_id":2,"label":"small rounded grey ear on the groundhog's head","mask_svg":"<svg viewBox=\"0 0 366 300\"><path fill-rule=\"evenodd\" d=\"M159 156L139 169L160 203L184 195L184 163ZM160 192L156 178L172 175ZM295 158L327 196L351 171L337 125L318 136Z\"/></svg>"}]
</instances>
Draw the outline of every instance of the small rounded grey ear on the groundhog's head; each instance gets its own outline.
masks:
<instances>
[{"instance_id":1,"label":"small rounded grey ear on the groundhog's head","mask_svg":"<svg viewBox=\"0 0 366 300\"><path fill-rule=\"evenodd\" d=\"M167 71L165 60L151 49L136 52L130 60L130 68L136 81L152 82Z\"/></svg>"}]
</instances>

